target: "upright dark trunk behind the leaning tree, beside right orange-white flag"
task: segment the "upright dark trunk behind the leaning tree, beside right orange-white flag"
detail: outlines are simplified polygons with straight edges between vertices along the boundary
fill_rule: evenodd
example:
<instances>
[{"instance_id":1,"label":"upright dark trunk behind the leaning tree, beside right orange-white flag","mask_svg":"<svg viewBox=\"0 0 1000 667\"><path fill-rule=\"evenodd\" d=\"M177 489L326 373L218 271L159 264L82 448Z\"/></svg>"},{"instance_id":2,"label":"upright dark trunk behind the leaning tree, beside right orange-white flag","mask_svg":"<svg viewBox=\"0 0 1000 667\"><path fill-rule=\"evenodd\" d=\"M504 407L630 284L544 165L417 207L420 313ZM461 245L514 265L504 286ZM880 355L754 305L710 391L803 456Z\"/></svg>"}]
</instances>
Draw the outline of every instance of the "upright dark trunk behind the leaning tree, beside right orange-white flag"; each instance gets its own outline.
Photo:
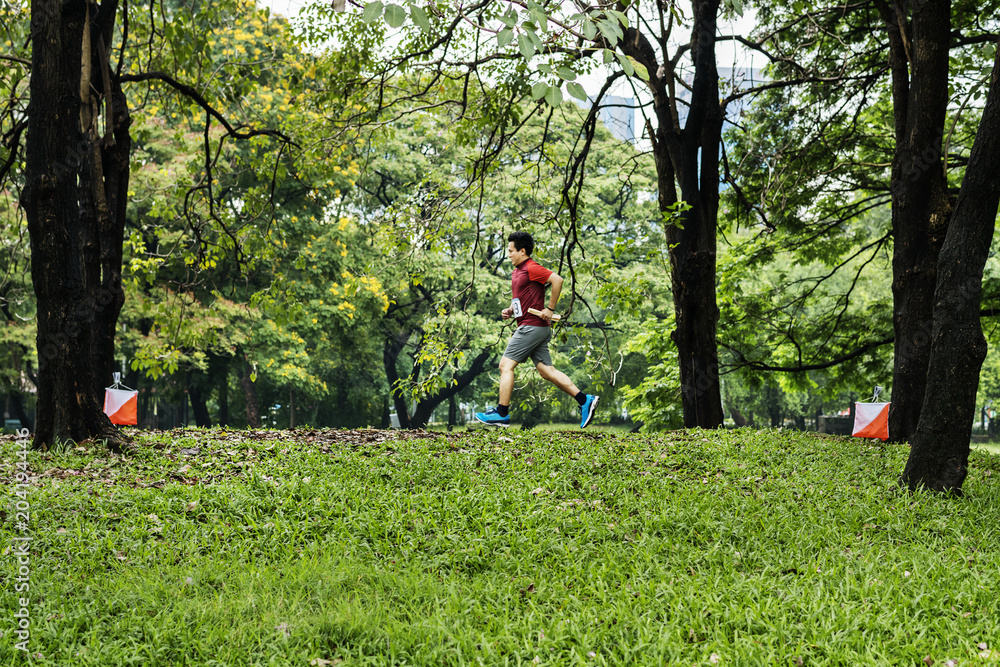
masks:
<instances>
[{"instance_id":1,"label":"upright dark trunk behind the leaning tree, beside right orange-white flag","mask_svg":"<svg viewBox=\"0 0 1000 667\"><path fill-rule=\"evenodd\" d=\"M897 3L896 8L900 7ZM951 218L942 144L948 106L951 3L917 3L902 26L879 8L889 34L896 150L892 159L895 355L889 435L916 431L930 359L938 254Z\"/></svg>"}]
</instances>

